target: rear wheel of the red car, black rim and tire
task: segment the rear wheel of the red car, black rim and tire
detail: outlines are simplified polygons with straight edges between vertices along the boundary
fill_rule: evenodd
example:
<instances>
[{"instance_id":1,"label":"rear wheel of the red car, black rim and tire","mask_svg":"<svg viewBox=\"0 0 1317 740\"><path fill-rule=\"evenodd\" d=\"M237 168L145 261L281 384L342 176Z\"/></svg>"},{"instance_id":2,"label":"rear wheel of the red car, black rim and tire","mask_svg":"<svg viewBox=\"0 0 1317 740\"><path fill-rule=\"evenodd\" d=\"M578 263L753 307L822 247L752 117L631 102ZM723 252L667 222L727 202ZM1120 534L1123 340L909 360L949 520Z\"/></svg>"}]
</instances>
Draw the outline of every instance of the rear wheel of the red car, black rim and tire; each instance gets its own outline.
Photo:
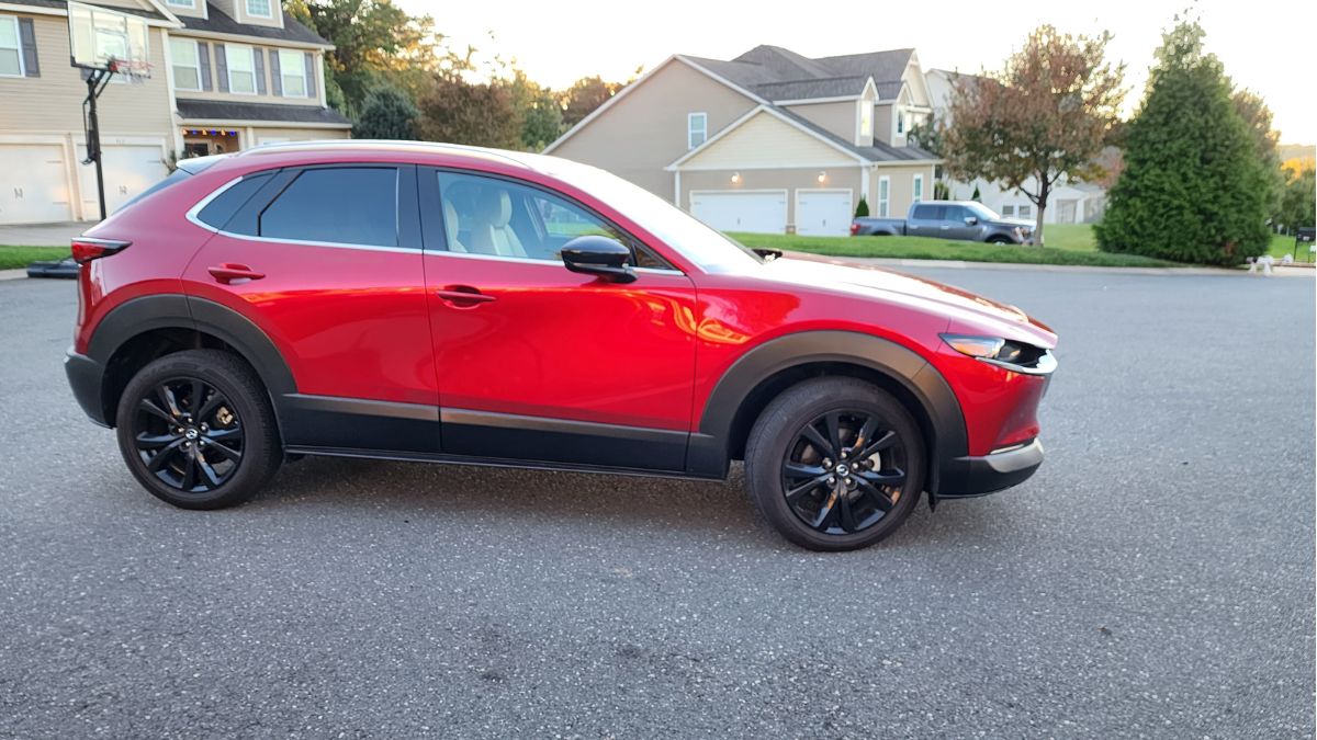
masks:
<instances>
[{"instance_id":1,"label":"rear wheel of the red car, black rim and tire","mask_svg":"<svg viewBox=\"0 0 1317 740\"><path fill-rule=\"evenodd\" d=\"M115 419L128 470L153 496L182 508L244 503L283 458L265 387L228 352L195 349L150 362L128 382Z\"/></svg>"}]
</instances>

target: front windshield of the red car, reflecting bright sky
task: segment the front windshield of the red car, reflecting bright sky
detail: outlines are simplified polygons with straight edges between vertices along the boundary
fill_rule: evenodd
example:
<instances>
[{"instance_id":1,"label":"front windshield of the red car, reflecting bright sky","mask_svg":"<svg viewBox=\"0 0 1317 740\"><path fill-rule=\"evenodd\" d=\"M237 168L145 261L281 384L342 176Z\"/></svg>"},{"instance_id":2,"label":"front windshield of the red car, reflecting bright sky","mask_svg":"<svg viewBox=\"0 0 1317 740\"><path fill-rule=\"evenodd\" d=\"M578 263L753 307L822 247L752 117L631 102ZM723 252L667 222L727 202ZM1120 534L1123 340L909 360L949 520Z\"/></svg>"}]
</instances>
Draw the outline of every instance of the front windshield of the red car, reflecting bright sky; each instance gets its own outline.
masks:
<instances>
[{"instance_id":1,"label":"front windshield of the red car, reflecting bright sky","mask_svg":"<svg viewBox=\"0 0 1317 740\"><path fill-rule=\"evenodd\" d=\"M657 195L603 170L560 159L528 155L537 170L598 196L706 273L726 273L764 259L736 240L706 226Z\"/></svg>"}]
</instances>

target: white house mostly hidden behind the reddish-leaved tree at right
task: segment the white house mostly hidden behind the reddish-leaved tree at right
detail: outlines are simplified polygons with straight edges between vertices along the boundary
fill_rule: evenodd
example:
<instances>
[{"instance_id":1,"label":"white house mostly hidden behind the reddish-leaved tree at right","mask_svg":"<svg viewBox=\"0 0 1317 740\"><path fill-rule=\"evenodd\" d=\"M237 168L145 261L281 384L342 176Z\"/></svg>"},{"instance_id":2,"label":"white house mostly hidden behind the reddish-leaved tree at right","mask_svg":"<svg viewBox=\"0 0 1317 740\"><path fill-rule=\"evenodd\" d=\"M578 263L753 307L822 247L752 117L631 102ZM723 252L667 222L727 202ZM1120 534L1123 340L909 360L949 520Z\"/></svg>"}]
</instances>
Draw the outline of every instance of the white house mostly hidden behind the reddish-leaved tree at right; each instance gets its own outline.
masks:
<instances>
[{"instance_id":1,"label":"white house mostly hidden behind the reddish-leaved tree at right","mask_svg":"<svg viewBox=\"0 0 1317 740\"><path fill-rule=\"evenodd\" d=\"M957 76L963 75L947 70L928 70L925 75L928 95L932 100L934 120L950 122L951 92ZM1108 149L1102 154L1104 159L1118 158L1118 154L1112 150L1113 147ZM1002 216L1017 219L1038 217L1033 200L1029 200L1019 190L1005 187L1002 183L989 182L982 178L961 182L950 176L943 176L942 182L947 186L951 200L971 200L973 199L975 190L977 190L979 201ZM1023 187L1029 191L1036 191L1038 180L1030 178L1025 180ZM1043 223L1092 224L1101 221L1105 211L1105 187L1097 183L1071 180L1063 175L1052 186L1051 194L1047 198L1047 212L1043 213Z\"/></svg>"}]
</instances>

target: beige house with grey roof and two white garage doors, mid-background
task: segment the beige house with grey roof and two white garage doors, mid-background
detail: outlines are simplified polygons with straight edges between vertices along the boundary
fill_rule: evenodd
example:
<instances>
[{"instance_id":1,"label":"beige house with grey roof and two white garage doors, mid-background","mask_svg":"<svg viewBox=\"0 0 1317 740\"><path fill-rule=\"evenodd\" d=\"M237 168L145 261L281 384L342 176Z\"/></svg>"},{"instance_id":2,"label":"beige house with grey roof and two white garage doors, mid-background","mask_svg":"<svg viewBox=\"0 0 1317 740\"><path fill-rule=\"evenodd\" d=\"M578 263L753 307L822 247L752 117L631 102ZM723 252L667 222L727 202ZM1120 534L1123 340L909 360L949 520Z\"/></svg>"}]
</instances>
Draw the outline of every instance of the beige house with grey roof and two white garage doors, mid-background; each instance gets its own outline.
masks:
<instances>
[{"instance_id":1,"label":"beige house with grey roof and two white garage doors, mid-background","mask_svg":"<svg viewBox=\"0 0 1317 740\"><path fill-rule=\"evenodd\" d=\"M931 112L913 49L677 54L545 153L608 170L718 229L846 234L861 198L880 216L931 198L938 158L906 141Z\"/></svg>"}]
</instances>

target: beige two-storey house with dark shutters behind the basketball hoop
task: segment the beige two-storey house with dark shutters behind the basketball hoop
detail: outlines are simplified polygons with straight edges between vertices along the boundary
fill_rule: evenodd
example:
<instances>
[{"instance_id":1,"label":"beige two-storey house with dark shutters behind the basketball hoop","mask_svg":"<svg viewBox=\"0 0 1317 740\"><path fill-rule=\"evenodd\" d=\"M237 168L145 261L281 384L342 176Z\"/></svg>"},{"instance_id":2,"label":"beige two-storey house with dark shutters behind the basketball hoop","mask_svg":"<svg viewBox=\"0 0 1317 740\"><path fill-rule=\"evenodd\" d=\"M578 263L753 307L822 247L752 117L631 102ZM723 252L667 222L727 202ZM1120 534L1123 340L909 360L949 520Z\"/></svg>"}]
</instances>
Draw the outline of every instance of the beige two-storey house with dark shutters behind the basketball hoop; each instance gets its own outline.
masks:
<instances>
[{"instance_id":1,"label":"beige two-storey house with dark shutters behind the basketball hoop","mask_svg":"<svg viewBox=\"0 0 1317 740\"><path fill-rule=\"evenodd\" d=\"M150 79L111 78L99 99L109 211L173 159L262 142L345 138L325 105L332 46L281 0L97 0L146 21ZM0 224L100 217L87 157L82 70L63 0L0 0Z\"/></svg>"}]
</instances>

